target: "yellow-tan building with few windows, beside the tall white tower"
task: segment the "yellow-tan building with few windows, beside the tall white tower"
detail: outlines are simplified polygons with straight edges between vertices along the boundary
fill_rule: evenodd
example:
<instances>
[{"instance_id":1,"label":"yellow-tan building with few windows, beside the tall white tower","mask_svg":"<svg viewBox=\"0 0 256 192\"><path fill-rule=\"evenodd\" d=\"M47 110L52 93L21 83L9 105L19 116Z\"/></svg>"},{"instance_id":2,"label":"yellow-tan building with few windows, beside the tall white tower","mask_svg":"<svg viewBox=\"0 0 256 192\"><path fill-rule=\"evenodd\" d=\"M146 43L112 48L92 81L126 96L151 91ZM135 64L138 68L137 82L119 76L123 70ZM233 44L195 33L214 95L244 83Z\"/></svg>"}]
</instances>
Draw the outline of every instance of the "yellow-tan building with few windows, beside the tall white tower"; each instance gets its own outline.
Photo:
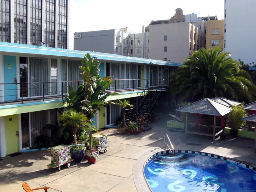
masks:
<instances>
[{"instance_id":1,"label":"yellow-tan building with few windows, beside the tall white tower","mask_svg":"<svg viewBox=\"0 0 256 192\"><path fill-rule=\"evenodd\" d=\"M224 20L208 20L206 25L206 50L216 47L223 49Z\"/></svg>"}]
</instances>

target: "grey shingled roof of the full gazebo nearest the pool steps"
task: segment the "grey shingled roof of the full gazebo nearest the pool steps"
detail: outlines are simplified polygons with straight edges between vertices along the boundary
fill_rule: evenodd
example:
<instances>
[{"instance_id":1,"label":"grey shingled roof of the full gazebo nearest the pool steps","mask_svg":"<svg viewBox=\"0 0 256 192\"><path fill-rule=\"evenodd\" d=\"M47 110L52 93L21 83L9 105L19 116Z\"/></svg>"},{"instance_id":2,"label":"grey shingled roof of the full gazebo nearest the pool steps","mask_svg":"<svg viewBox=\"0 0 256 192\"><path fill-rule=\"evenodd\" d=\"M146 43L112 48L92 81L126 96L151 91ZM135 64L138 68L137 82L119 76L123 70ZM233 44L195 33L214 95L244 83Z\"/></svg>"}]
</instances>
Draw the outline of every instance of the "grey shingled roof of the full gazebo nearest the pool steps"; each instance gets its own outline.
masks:
<instances>
[{"instance_id":1,"label":"grey shingled roof of the full gazebo nearest the pool steps","mask_svg":"<svg viewBox=\"0 0 256 192\"><path fill-rule=\"evenodd\" d=\"M190 105L181 107L176 109L179 112L187 112L187 113L198 113L198 114L205 114L205 115L216 115L216 116L223 116L228 114L232 111L231 107L227 107L222 105L214 100L209 98L201 99L196 101Z\"/></svg>"}]
</instances>

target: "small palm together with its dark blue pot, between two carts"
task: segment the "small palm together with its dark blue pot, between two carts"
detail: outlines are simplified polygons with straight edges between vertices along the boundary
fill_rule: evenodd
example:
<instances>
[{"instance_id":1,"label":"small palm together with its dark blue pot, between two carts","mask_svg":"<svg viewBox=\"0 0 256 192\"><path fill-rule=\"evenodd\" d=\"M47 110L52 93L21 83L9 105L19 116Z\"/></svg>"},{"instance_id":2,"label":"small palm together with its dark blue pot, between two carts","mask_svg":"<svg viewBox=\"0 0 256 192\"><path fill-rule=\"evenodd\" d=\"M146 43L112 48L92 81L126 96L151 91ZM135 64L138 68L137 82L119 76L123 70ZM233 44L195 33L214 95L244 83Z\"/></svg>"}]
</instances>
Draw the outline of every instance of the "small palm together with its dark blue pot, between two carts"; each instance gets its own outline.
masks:
<instances>
[{"instance_id":1,"label":"small palm together with its dark blue pot, between two carts","mask_svg":"<svg viewBox=\"0 0 256 192\"><path fill-rule=\"evenodd\" d=\"M71 146L71 158L75 163L83 161L86 148L84 145L77 145L77 129L84 129L88 126L88 118L81 112L76 112L74 109L65 110L59 117L64 128L71 128L74 135L74 146Z\"/></svg>"}]
</instances>

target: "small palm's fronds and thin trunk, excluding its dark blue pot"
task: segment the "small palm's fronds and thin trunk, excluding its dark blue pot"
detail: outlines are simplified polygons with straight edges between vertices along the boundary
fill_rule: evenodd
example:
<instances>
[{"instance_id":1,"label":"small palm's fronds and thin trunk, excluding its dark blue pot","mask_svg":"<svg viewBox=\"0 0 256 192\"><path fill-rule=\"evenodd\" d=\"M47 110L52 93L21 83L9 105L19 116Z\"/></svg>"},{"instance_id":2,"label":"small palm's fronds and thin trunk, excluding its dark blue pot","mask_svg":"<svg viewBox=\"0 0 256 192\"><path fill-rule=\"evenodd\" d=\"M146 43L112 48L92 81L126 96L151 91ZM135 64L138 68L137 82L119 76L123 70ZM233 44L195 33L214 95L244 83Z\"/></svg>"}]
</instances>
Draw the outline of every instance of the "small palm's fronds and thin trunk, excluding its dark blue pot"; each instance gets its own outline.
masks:
<instances>
[{"instance_id":1,"label":"small palm's fronds and thin trunk, excluding its dark blue pot","mask_svg":"<svg viewBox=\"0 0 256 192\"><path fill-rule=\"evenodd\" d=\"M67 128L71 128L74 134L74 144L77 148L77 128L88 126L88 118L85 114L81 112L76 112L74 109L64 111L59 120L62 122L62 125Z\"/></svg>"}]
</instances>

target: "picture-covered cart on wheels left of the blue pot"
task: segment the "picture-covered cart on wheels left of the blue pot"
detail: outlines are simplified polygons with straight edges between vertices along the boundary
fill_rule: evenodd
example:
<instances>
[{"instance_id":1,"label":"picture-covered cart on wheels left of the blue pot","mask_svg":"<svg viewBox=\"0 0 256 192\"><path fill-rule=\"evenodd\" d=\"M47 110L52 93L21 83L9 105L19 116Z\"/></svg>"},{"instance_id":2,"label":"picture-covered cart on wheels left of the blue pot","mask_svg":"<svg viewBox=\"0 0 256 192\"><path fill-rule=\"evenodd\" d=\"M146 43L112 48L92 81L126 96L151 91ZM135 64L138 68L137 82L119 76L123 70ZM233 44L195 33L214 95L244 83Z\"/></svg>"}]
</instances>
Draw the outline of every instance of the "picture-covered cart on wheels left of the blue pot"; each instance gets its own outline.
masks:
<instances>
[{"instance_id":1,"label":"picture-covered cart on wheels left of the blue pot","mask_svg":"<svg viewBox=\"0 0 256 192\"><path fill-rule=\"evenodd\" d=\"M47 165L49 168L57 168L61 170L61 165L66 164L66 167L70 167L70 162L73 161L70 157L70 146L69 145L58 145L47 149L51 151L51 164Z\"/></svg>"}]
</instances>

